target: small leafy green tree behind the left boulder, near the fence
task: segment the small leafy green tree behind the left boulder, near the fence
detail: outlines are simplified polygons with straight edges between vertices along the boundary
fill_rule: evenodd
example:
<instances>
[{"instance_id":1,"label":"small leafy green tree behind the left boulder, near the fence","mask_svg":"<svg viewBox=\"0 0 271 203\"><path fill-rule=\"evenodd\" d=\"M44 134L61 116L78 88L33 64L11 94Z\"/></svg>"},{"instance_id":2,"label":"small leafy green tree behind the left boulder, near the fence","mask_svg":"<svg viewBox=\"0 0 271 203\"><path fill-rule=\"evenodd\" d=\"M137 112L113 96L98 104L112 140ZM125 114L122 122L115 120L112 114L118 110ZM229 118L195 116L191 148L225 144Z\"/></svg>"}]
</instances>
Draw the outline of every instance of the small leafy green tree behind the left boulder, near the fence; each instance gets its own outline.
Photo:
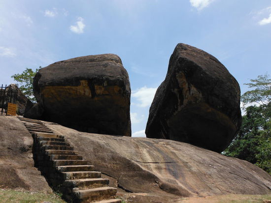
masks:
<instances>
[{"instance_id":1,"label":"small leafy green tree behind the left boulder, near the fence","mask_svg":"<svg viewBox=\"0 0 271 203\"><path fill-rule=\"evenodd\" d=\"M33 93L33 78L37 71L38 71L37 68L34 71L31 68L26 68L21 74L14 74L13 76L11 76L11 78L13 78L15 81L19 83L20 90L32 102L36 102L34 93ZM18 84L16 85L19 86Z\"/></svg>"}]
</instances>

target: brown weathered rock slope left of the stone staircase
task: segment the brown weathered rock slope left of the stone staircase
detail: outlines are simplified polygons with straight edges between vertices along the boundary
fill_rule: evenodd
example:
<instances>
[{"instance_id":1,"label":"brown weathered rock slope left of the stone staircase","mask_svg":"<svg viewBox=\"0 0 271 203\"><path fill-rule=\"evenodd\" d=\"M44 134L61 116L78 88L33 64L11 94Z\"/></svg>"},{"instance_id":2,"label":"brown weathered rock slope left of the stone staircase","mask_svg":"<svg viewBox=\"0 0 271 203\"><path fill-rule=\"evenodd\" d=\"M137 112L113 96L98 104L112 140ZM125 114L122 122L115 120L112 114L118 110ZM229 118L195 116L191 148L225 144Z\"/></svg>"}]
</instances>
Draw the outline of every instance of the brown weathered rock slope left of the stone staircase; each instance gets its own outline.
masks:
<instances>
[{"instance_id":1,"label":"brown weathered rock slope left of the stone staircase","mask_svg":"<svg viewBox=\"0 0 271 203\"><path fill-rule=\"evenodd\" d=\"M52 192L34 167L33 139L15 116L0 116L0 188Z\"/></svg>"}]
</instances>

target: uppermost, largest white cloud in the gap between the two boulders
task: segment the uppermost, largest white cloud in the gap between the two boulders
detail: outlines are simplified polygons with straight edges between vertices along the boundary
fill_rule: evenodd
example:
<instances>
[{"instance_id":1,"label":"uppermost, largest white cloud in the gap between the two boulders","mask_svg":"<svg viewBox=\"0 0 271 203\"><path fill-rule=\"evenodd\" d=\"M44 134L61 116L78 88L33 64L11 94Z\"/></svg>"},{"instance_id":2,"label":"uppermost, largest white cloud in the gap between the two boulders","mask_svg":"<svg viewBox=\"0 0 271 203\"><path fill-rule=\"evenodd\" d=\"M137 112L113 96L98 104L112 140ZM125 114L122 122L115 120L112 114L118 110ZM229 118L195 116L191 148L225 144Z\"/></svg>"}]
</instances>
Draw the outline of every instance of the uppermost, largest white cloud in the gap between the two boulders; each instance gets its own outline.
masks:
<instances>
[{"instance_id":1,"label":"uppermost, largest white cloud in the gap between the two boulders","mask_svg":"<svg viewBox=\"0 0 271 203\"><path fill-rule=\"evenodd\" d=\"M132 91L132 97L135 97L140 103L137 104L139 107L150 106L154 98L157 88L147 88L146 86L141 87L137 90Z\"/></svg>"}]
</instances>

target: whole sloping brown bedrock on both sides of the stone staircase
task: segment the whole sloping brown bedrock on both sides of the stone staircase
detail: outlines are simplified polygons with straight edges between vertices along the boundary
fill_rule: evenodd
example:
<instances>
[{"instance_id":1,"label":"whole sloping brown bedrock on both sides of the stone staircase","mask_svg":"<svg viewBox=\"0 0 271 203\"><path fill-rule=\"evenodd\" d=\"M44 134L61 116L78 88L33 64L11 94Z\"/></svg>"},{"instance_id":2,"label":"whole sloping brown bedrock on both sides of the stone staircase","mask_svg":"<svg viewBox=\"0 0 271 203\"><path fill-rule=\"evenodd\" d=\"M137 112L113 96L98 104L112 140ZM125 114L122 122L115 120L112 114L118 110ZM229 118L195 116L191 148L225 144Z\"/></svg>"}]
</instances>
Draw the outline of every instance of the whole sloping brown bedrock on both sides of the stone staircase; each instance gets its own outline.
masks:
<instances>
[{"instance_id":1,"label":"whole sloping brown bedrock on both sides of the stone staircase","mask_svg":"<svg viewBox=\"0 0 271 203\"><path fill-rule=\"evenodd\" d=\"M82 133L45 122L65 135L88 164L131 203L178 203L183 197L268 194L271 176L259 167L187 143ZM15 116L0 116L0 188L51 191L34 168L33 139ZM133 193L130 193L133 192Z\"/></svg>"}]
</instances>

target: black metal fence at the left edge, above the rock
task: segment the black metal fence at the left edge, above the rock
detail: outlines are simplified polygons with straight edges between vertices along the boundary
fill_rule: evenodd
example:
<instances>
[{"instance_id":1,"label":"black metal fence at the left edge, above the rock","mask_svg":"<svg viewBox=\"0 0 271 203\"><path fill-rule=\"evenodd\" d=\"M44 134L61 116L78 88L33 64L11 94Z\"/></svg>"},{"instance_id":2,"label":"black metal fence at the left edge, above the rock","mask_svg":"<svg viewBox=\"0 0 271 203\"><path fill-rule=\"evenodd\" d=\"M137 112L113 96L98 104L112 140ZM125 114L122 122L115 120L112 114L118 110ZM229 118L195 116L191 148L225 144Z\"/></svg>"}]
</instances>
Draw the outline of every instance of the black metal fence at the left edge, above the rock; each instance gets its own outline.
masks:
<instances>
[{"instance_id":1,"label":"black metal fence at the left edge, above the rock","mask_svg":"<svg viewBox=\"0 0 271 203\"><path fill-rule=\"evenodd\" d=\"M0 87L0 115L7 113L8 103L16 104L17 102L17 88L10 86L1 86Z\"/></svg>"}]
</instances>

